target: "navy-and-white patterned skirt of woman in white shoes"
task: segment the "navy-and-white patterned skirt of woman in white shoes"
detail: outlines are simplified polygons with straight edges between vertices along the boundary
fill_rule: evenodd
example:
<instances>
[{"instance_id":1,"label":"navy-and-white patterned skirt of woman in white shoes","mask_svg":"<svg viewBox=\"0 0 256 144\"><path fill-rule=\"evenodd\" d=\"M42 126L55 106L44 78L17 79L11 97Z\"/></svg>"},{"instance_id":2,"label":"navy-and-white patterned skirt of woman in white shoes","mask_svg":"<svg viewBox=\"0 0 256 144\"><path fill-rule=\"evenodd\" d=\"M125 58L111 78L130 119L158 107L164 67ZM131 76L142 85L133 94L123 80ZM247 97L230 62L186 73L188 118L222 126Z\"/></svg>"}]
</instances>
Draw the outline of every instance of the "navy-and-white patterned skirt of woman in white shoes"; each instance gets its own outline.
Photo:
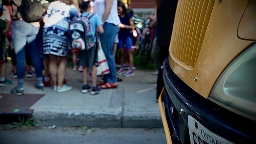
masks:
<instances>
[{"instance_id":1,"label":"navy-and-white patterned skirt of woman in white shoes","mask_svg":"<svg viewBox=\"0 0 256 144\"><path fill-rule=\"evenodd\" d=\"M66 57L69 47L68 31L56 27L43 29L43 54Z\"/></svg>"}]
</instances>

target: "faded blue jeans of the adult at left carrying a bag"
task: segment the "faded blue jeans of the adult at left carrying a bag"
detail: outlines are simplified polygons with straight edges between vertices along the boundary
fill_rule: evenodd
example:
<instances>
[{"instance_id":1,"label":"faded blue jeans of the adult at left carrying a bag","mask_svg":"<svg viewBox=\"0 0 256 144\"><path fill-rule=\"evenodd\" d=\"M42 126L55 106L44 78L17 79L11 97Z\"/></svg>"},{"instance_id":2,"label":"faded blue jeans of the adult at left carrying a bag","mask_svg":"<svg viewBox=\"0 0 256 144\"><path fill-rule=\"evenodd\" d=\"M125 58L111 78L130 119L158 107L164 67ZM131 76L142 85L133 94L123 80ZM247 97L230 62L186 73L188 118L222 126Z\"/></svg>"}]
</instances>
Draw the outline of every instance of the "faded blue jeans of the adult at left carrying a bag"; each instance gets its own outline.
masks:
<instances>
[{"instance_id":1,"label":"faded blue jeans of the adult at left carrying a bag","mask_svg":"<svg viewBox=\"0 0 256 144\"><path fill-rule=\"evenodd\" d=\"M18 81L24 81L25 76L25 46L27 44L30 57L33 61L37 79L43 77L43 62L40 55L39 27L35 28L25 21L12 21L11 38L17 59Z\"/></svg>"}]
</instances>

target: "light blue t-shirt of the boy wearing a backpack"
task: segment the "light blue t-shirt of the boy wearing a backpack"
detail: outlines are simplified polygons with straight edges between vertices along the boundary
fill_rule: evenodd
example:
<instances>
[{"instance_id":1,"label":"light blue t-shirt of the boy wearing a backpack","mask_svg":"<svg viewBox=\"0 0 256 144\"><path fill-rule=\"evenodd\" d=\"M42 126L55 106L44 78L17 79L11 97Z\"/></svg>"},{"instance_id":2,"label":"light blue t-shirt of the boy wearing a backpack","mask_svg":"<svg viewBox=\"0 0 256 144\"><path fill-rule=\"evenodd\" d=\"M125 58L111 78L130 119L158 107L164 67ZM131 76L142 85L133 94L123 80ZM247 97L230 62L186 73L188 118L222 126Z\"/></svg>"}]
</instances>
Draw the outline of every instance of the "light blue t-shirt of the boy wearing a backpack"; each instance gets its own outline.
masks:
<instances>
[{"instance_id":1,"label":"light blue t-shirt of the boy wearing a backpack","mask_svg":"<svg viewBox=\"0 0 256 144\"><path fill-rule=\"evenodd\" d=\"M87 15L89 14L89 12L83 12L82 13L82 17L86 17ZM91 28L91 33L92 35L94 36L94 42L96 42L96 35L95 33L97 32L96 31L96 28L100 25L102 25L102 21L101 19L99 18L99 16L97 14L94 14L90 19L90 28Z\"/></svg>"}]
</instances>

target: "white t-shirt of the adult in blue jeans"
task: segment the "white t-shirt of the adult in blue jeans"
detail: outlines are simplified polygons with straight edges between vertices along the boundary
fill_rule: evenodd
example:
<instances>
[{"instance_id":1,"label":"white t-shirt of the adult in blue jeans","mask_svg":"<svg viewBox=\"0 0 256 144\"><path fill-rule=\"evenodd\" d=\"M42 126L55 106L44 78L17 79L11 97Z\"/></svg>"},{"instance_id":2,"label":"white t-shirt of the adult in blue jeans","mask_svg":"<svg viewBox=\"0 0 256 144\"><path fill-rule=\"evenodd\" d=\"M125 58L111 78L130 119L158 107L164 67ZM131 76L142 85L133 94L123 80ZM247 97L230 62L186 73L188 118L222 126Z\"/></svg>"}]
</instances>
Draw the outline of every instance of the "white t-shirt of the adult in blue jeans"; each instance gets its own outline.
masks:
<instances>
[{"instance_id":1,"label":"white t-shirt of the adult in blue jeans","mask_svg":"<svg viewBox=\"0 0 256 144\"><path fill-rule=\"evenodd\" d=\"M94 0L94 12L97 13L102 19L105 11L105 0ZM112 23L114 25L118 25L120 23L120 19L117 13L117 0L113 0L113 4L111 7L111 11L109 13L108 18L106 19L107 23Z\"/></svg>"}]
</instances>

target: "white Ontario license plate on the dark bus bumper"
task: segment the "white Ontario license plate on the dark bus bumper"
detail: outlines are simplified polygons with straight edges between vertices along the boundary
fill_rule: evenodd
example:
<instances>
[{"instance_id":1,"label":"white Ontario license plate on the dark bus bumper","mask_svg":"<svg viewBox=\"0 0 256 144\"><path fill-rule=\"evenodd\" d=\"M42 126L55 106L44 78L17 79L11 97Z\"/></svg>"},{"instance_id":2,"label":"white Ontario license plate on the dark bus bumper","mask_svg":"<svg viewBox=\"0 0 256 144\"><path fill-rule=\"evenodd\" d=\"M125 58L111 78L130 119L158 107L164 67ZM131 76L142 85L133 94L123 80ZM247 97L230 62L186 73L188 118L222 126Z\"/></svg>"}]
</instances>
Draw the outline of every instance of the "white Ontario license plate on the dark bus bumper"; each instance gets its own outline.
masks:
<instances>
[{"instance_id":1,"label":"white Ontario license plate on the dark bus bumper","mask_svg":"<svg viewBox=\"0 0 256 144\"><path fill-rule=\"evenodd\" d=\"M231 144L232 142L206 129L191 115L188 115L188 130L191 144Z\"/></svg>"}]
</instances>

